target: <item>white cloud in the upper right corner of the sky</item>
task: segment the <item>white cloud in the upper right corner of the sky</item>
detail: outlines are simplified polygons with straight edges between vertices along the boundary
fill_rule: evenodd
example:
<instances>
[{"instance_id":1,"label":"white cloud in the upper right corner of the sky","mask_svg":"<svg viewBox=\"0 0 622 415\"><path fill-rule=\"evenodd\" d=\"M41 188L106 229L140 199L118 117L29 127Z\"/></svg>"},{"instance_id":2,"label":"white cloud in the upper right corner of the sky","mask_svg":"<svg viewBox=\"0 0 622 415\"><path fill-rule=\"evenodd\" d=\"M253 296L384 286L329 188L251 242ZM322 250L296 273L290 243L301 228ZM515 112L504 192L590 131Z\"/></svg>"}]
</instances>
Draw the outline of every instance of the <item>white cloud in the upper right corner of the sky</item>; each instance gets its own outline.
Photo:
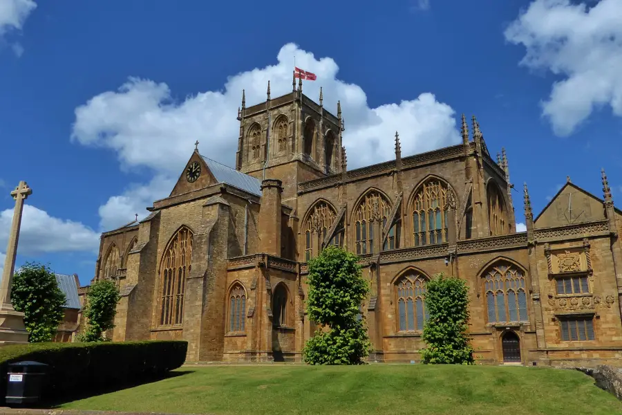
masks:
<instances>
[{"instance_id":1,"label":"white cloud in the upper right corner of the sky","mask_svg":"<svg viewBox=\"0 0 622 415\"><path fill-rule=\"evenodd\" d=\"M556 134L568 136L599 107L622 116L622 1L536 0L505 38L525 46L522 65L561 78L542 104Z\"/></svg>"}]
</instances>

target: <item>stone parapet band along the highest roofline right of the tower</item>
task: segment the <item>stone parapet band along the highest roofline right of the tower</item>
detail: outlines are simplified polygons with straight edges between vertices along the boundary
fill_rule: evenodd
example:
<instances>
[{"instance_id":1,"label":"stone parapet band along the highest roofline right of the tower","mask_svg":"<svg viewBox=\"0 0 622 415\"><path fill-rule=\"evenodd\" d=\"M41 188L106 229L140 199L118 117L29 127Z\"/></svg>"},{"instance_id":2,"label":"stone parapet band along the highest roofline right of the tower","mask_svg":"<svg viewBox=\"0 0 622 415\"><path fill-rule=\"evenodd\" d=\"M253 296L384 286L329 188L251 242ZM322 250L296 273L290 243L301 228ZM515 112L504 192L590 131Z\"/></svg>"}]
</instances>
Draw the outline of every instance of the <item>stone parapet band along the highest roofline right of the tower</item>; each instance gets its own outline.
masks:
<instances>
[{"instance_id":1,"label":"stone parapet band along the highest roofline right of the tower","mask_svg":"<svg viewBox=\"0 0 622 415\"><path fill-rule=\"evenodd\" d=\"M446 147L444 149L428 151L427 153L415 154L414 156L402 158L402 169L411 169L421 165L426 165L428 163L437 162L439 160L462 156L464 156L464 146L461 144L454 145L452 147ZM395 170L395 160L350 170L346 172L346 183L349 181L356 181L359 178L367 176L389 174L393 172L393 170ZM298 193L303 194L306 192L312 192L313 190L319 190L323 187L337 185L340 182L341 174L333 174L332 176L317 178L312 181L300 183L298 185Z\"/></svg>"}]
</instances>

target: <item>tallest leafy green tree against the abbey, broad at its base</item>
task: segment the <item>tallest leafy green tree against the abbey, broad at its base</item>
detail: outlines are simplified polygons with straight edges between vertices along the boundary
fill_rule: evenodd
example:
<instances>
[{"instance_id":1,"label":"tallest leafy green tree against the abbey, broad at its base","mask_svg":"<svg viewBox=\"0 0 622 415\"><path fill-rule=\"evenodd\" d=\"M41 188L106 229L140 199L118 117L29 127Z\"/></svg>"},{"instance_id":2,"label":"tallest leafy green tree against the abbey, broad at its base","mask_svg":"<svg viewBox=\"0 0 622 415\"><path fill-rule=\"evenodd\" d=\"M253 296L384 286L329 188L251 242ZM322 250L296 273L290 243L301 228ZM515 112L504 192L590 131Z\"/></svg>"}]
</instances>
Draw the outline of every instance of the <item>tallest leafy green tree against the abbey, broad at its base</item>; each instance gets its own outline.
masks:
<instances>
[{"instance_id":1,"label":"tallest leafy green tree against the abbey, broad at its base","mask_svg":"<svg viewBox=\"0 0 622 415\"><path fill-rule=\"evenodd\" d=\"M303 349L310 365L361 365L370 342L360 307L369 286L356 255L328 246L309 261L307 313L318 329Z\"/></svg>"}]
</instances>

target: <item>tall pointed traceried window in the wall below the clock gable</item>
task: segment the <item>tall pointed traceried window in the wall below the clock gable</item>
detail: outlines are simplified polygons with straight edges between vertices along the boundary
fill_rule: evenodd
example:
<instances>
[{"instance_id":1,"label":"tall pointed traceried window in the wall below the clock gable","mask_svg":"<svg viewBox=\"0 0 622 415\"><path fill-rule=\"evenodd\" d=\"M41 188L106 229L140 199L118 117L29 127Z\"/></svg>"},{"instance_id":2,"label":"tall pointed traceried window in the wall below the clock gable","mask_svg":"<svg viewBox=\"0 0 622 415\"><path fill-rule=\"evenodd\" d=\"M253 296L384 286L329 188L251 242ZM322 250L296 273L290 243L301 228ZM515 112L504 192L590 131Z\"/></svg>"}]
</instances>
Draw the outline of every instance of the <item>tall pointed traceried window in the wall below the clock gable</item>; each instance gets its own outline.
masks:
<instances>
[{"instance_id":1,"label":"tall pointed traceried window in the wall below the clock gable","mask_svg":"<svg viewBox=\"0 0 622 415\"><path fill-rule=\"evenodd\" d=\"M184 290L190 273L192 232L181 228L173 236L162 259L160 286L160 326L177 326L183 322Z\"/></svg>"}]
</instances>

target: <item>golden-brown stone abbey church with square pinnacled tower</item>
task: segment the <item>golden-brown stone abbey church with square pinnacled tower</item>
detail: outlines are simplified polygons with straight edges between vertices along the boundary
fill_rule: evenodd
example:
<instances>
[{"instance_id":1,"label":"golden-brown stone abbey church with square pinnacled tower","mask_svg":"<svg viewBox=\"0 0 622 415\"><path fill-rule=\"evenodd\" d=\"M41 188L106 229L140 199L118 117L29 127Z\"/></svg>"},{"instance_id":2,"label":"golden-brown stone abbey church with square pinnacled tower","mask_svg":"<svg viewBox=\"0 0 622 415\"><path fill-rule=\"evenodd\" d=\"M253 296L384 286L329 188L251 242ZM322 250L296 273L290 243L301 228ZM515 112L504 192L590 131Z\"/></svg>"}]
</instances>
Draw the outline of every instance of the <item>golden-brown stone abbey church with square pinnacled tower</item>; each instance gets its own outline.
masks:
<instances>
[{"instance_id":1,"label":"golden-brown stone abbey church with square pinnacled tower","mask_svg":"<svg viewBox=\"0 0 622 415\"><path fill-rule=\"evenodd\" d=\"M295 80L294 80L295 81ZM569 179L543 212L513 190L505 151L462 117L458 145L347 169L341 107L302 92L238 110L235 167L189 149L165 199L102 234L95 279L120 289L121 340L187 340L187 361L301 361L307 262L360 257L372 362L420 360L426 282L469 286L477 362L594 365L622 358L622 212ZM469 131L470 130L470 131ZM522 194L526 232L516 232ZM81 288L82 293L88 288Z\"/></svg>"}]
</instances>

